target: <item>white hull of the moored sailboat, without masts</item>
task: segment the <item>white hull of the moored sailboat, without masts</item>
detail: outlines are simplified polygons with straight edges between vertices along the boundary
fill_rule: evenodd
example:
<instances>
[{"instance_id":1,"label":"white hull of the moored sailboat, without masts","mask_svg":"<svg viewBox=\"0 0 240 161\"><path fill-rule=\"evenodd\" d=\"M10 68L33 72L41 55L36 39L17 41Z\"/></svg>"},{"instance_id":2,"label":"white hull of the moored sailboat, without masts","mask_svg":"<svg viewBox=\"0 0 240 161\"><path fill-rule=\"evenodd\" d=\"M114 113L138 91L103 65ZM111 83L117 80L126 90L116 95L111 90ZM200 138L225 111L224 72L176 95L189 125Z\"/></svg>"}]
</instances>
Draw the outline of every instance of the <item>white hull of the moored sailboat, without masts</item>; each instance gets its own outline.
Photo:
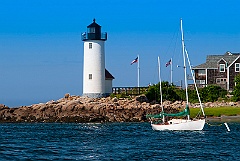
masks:
<instances>
[{"instance_id":1,"label":"white hull of the moored sailboat, without masts","mask_svg":"<svg viewBox=\"0 0 240 161\"><path fill-rule=\"evenodd\" d=\"M167 124L151 124L153 130L186 130L186 131L197 131L202 130L205 125L205 119L201 120L183 120L183 119L172 119Z\"/></svg>"}]
</instances>

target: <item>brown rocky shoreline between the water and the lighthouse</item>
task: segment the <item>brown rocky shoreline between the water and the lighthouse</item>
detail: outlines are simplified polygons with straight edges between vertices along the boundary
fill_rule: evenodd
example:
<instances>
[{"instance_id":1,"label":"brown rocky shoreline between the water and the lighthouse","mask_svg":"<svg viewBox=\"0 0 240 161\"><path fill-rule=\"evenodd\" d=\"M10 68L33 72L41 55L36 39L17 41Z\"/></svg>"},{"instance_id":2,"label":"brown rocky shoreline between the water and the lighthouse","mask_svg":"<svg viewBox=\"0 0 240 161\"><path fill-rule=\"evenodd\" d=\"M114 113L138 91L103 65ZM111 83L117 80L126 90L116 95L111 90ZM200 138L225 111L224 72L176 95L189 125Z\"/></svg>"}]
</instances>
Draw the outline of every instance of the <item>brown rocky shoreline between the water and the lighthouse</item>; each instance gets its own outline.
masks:
<instances>
[{"instance_id":1,"label":"brown rocky shoreline between the water and the lighthouse","mask_svg":"<svg viewBox=\"0 0 240 161\"><path fill-rule=\"evenodd\" d=\"M205 103L205 107L240 106L236 102ZM167 112L177 112L185 102L165 101ZM190 104L190 108L199 104ZM144 95L133 98L86 98L65 94L64 98L18 108L0 105L0 122L147 122L146 114L161 112Z\"/></svg>"}]
</instances>

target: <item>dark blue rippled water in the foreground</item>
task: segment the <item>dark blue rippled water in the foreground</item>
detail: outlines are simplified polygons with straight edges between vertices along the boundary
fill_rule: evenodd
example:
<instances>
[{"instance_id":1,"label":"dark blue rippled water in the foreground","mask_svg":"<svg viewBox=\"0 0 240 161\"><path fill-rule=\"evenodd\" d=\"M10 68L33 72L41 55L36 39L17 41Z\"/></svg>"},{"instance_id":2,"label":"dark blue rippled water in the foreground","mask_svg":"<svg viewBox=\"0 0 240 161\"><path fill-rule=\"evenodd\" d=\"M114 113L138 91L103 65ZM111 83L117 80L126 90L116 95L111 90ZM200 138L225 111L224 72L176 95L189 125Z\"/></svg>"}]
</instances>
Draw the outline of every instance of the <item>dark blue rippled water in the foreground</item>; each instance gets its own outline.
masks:
<instances>
[{"instance_id":1,"label":"dark blue rippled water in the foreground","mask_svg":"<svg viewBox=\"0 0 240 161\"><path fill-rule=\"evenodd\" d=\"M200 132L149 123L0 124L1 160L240 160L240 123Z\"/></svg>"}]
</instances>

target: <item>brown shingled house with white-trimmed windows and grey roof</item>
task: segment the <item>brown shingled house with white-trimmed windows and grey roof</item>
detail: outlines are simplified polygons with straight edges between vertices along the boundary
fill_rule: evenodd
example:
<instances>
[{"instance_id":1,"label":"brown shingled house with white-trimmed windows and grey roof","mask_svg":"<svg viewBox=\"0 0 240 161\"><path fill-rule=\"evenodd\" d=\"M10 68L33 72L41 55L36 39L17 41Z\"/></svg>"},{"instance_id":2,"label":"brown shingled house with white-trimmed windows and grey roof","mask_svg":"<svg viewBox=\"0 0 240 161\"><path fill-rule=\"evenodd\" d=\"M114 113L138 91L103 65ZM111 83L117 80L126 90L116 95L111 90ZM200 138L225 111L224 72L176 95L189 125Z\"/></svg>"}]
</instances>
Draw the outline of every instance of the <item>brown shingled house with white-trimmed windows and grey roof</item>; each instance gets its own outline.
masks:
<instances>
[{"instance_id":1,"label":"brown shingled house with white-trimmed windows and grey roof","mask_svg":"<svg viewBox=\"0 0 240 161\"><path fill-rule=\"evenodd\" d=\"M232 91L235 86L234 78L240 73L240 53L208 55L206 62L195 66L193 70L198 87L214 84Z\"/></svg>"}]
</instances>

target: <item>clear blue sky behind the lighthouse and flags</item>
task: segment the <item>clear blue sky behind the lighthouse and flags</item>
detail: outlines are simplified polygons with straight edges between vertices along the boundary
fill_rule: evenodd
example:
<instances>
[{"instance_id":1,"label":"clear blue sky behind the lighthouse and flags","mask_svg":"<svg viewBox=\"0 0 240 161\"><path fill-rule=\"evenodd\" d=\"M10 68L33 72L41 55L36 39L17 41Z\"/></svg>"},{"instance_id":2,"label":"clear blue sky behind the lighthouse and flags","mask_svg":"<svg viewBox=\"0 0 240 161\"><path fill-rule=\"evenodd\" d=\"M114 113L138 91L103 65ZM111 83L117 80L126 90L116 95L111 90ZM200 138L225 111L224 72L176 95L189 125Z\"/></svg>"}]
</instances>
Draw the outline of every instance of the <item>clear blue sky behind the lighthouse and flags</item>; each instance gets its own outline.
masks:
<instances>
[{"instance_id":1,"label":"clear blue sky behind the lighthouse and flags","mask_svg":"<svg viewBox=\"0 0 240 161\"><path fill-rule=\"evenodd\" d=\"M207 55L240 52L239 0L0 0L0 104L9 107L82 95L81 33L96 19L114 87L140 86L161 77L183 80L180 19L193 66Z\"/></svg>"}]
</instances>

